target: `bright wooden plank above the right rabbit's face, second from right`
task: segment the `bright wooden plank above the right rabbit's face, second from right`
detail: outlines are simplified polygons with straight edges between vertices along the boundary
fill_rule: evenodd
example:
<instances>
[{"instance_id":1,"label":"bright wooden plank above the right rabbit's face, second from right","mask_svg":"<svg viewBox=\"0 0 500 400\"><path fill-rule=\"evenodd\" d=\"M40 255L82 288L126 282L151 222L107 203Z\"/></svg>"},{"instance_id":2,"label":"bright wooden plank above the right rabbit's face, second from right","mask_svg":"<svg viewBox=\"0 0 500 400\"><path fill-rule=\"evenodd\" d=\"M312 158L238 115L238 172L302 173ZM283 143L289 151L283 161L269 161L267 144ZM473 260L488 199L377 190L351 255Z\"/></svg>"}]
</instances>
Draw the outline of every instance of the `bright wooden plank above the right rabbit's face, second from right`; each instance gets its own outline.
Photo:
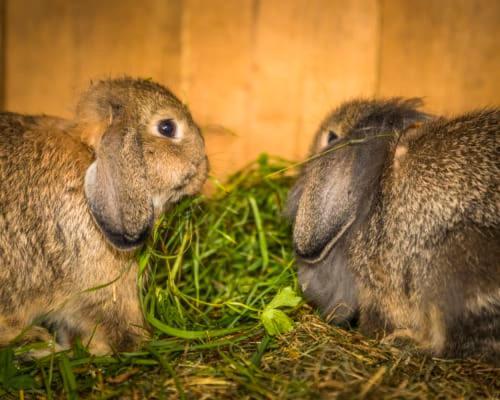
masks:
<instances>
[{"instance_id":1,"label":"bright wooden plank above the right rabbit's face, second from right","mask_svg":"<svg viewBox=\"0 0 500 400\"><path fill-rule=\"evenodd\" d=\"M256 23L245 154L302 157L328 111L374 94L376 2L262 1Z\"/></svg>"}]
</instances>

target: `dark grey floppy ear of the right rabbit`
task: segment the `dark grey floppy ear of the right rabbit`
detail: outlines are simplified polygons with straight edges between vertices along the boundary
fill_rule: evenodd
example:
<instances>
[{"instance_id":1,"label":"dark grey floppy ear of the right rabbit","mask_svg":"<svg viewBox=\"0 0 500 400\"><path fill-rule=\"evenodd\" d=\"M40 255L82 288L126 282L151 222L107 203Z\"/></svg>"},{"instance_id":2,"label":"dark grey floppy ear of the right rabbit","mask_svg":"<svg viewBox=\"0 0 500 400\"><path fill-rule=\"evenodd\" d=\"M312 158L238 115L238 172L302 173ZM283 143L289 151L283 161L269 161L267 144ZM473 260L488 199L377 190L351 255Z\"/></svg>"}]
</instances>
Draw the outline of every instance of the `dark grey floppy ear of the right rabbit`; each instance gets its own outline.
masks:
<instances>
[{"instance_id":1,"label":"dark grey floppy ear of the right rabbit","mask_svg":"<svg viewBox=\"0 0 500 400\"><path fill-rule=\"evenodd\" d=\"M377 193L389 140L346 147L314 160L306 172L294 221L294 246L317 263L366 215Z\"/></svg>"}]
</instances>

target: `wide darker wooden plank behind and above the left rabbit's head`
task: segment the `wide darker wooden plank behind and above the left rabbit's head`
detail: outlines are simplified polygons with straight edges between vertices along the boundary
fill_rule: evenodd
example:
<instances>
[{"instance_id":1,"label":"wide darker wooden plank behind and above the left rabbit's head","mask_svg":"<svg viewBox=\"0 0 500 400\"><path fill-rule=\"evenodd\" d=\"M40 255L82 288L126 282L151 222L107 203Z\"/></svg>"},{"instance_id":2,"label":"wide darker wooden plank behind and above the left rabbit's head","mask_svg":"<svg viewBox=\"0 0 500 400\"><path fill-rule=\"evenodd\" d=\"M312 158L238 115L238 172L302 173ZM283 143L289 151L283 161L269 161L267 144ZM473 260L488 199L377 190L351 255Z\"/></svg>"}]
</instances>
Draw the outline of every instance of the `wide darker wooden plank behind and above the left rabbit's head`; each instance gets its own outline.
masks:
<instances>
[{"instance_id":1,"label":"wide darker wooden plank behind and above the left rabbit's head","mask_svg":"<svg viewBox=\"0 0 500 400\"><path fill-rule=\"evenodd\" d=\"M6 48L14 111L68 116L77 93L108 76L151 77L176 90L180 0L9 0Z\"/></svg>"}]
</instances>

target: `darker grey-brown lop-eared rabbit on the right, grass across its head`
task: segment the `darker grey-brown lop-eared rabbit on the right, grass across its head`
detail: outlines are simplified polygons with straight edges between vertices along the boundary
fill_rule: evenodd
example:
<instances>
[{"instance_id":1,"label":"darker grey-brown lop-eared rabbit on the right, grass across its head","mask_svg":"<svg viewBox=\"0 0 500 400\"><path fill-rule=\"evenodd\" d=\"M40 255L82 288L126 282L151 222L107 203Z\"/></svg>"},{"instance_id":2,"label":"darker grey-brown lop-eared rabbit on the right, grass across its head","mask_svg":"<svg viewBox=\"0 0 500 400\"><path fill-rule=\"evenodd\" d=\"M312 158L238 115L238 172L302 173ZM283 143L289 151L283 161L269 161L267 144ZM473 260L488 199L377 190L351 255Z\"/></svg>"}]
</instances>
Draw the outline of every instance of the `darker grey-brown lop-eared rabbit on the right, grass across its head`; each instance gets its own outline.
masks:
<instances>
[{"instance_id":1,"label":"darker grey-brown lop-eared rabbit on the right, grass across its head","mask_svg":"<svg viewBox=\"0 0 500 400\"><path fill-rule=\"evenodd\" d=\"M299 279L330 320L500 364L500 111L357 100L289 195Z\"/></svg>"}]
</instances>

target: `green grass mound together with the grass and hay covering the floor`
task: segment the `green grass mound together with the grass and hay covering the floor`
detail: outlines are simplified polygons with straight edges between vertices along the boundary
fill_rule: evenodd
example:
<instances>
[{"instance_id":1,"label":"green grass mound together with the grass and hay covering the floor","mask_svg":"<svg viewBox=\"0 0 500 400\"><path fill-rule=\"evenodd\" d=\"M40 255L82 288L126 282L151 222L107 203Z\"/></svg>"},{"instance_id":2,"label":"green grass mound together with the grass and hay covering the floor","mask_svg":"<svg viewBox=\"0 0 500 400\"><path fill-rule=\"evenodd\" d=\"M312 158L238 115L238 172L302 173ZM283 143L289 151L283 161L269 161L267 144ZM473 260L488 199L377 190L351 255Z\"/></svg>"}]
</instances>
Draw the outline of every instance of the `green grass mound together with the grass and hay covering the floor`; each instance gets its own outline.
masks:
<instances>
[{"instance_id":1,"label":"green grass mound together with the grass and hay covering the floor","mask_svg":"<svg viewBox=\"0 0 500 400\"><path fill-rule=\"evenodd\" d=\"M499 369L391 348L299 303L281 217L292 178L276 173L288 165L262 156L158 222L138 254L144 348L35 361L22 356L36 344L3 349L0 397L499 398Z\"/></svg>"}]
</instances>

